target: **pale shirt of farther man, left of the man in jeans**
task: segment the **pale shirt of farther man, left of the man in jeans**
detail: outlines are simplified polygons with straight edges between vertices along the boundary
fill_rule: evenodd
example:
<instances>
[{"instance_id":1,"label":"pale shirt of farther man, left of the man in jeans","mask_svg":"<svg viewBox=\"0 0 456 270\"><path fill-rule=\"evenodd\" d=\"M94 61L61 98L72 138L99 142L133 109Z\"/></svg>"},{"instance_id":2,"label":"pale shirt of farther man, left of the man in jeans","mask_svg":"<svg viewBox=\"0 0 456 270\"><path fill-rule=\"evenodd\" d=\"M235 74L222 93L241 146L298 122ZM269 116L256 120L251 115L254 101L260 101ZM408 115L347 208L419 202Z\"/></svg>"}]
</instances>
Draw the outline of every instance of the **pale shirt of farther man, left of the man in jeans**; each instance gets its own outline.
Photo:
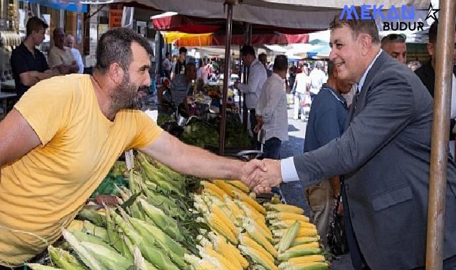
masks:
<instances>
[{"instance_id":1,"label":"pale shirt of farther man, left of the man in jeans","mask_svg":"<svg viewBox=\"0 0 456 270\"><path fill-rule=\"evenodd\" d=\"M245 105L247 105L247 109L255 109L266 80L265 66L258 59L253 60L250 64L248 83L246 85L238 85L240 92L245 93Z\"/></svg>"}]
</instances>

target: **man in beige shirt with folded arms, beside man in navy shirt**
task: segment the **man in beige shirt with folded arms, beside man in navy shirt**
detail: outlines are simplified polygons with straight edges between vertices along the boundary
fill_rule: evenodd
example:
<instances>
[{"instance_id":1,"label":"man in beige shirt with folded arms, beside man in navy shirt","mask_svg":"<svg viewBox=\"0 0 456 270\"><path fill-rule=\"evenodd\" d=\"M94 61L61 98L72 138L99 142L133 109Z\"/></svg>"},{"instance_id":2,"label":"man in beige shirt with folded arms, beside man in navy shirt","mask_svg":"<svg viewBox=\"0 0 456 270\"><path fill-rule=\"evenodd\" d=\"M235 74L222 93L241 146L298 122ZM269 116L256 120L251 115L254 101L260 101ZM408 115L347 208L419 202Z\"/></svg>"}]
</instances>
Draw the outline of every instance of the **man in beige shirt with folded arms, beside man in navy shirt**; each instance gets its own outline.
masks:
<instances>
[{"instance_id":1,"label":"man in beige shirt with folded arms, beside man in navy shirt","mask_svg":"<svg viewBox=\"0 0 456 270\"><path fill-rule=\"evenodd\" d=\"M65 47L65 32L63 28L55 28L53 31L54 46L49 51L49 67L52 70L66 75L78 73L79 66L76 63L70 48Z\"/></svg>"}]
</instances>

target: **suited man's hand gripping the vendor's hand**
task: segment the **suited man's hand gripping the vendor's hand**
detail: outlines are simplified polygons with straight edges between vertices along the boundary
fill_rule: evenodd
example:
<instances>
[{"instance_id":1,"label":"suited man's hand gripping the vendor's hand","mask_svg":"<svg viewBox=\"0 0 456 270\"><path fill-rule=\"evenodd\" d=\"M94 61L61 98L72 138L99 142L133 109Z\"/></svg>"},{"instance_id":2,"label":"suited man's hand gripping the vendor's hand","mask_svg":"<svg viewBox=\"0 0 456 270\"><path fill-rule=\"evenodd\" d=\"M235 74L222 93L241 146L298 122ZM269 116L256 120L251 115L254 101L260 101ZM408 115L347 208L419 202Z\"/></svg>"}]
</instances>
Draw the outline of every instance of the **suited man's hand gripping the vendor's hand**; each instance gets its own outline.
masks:
<instances>
[{"instance_id":1,"label":"suited man's hand gripping the vendor's hand","mask_svg":"<svg viewBox=\"0 0 456 270\"><path fill-rule=\"evenodd\" d=\"M263 163L265 163L267 171L259 173L258 178L260 181L255 181L258 184L255 188L253 188L255 193L270 193L272 187L277 187L280 183L282 183L280 161L274 159L263 159Z\"/></svg>"}]
</instances>

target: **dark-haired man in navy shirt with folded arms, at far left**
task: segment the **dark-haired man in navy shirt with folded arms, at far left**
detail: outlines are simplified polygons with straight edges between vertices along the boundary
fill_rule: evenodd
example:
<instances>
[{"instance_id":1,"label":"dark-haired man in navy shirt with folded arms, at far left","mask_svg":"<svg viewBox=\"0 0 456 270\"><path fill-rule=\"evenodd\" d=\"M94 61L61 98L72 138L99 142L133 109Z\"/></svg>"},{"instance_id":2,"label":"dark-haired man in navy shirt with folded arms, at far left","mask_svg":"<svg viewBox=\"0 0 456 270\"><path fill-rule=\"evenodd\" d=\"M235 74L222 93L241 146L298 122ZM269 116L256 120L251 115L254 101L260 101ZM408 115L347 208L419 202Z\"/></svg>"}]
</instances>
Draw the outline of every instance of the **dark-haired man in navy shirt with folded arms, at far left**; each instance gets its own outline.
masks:
<instances>
[{"instance_id":1,"label":"dark-haired man in navy shirt with folded arms, at far left","mask_svg":"<svg viewBox=\"0 0 456 270\"><path fill-rule=\"evenodd\" d=\"M11 69L18 99L37 82L53 76L43 53L35 48L43 42L46 28L48 24L40 18L29 18L26 39L11 53Z\"/></svg>"}]
</instances>

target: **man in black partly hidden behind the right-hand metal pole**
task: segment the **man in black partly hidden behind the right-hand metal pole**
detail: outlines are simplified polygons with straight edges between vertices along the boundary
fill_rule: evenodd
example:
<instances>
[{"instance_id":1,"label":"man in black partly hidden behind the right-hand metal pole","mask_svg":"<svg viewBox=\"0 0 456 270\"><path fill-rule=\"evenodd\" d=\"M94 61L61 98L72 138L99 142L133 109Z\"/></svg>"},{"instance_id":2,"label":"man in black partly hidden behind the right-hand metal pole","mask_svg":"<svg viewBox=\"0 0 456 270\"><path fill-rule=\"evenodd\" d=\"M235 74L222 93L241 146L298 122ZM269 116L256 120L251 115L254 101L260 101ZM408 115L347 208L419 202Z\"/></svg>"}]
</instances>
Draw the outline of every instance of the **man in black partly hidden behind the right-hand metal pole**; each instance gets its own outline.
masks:
<instances>
[{"instance_id":1,"label":"man in black partly hidden behind the right-hand metal pole","mask_svg":"<svg viewBox=\"0 0 456 270\"><path fill-rule=\"evenodd\" d=\"M434 97L434 84L435 84L435 48L437 45L437 28L438 23L435 21L432 26L429 28L429 43L428 43L428 53L430 54L430 61L422 65L418 70L415 70L415 74L420 77L421 82L428 88L428 91L432 97ZM456 26L455 26L456 31ZM456 48L456 32L455 32L455 48ZM453 58L456 63L456 50ZM456 75L456 67L453 66L453 74ZM454 79L453 79L454 80ZM456 97L453 97L456 98ZM452 108L453 111L453 108ZM455 119L450 119L450 141L455 141L455 135L452 134L452 130L455 127ZM450 148L452 150L452 148Z\"/></svg>"}]
</instances>

